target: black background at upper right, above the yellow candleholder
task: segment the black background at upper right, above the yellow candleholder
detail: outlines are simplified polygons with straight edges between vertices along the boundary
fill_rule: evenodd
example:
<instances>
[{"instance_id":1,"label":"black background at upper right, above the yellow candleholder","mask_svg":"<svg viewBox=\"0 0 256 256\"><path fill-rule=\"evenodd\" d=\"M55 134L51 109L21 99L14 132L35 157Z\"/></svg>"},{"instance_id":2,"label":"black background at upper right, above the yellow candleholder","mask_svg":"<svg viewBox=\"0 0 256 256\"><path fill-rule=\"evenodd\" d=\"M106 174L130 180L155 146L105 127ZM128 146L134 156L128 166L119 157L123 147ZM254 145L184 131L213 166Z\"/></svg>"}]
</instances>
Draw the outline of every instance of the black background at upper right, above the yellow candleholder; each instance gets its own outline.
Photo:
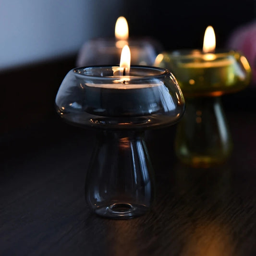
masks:
<instances>
[{"instance_id":1,"label":"black background at upper right, above the yellow candleholder","mask_svg":"<svg viewBox=\"0 0 256 256\"><path fill-rule=\"evenodd\" d=\"M208 25L214 28L216 47L225 48L233 30L256 17L254 0L131 0L125 8L130 35L154 37L166 50L202 49Z\"/></svg>"}]
</instances>

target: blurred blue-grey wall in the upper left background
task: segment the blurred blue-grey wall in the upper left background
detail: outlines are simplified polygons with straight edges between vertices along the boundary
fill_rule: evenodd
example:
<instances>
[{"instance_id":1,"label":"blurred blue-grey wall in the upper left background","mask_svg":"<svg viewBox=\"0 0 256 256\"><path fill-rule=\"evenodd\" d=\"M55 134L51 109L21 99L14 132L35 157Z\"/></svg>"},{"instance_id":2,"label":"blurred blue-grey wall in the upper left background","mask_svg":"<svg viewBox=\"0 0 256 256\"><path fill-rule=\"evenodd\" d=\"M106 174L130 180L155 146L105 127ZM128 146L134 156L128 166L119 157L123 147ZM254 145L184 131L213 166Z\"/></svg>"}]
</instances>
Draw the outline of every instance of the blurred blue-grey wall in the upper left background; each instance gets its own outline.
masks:
<instances>
[{"instance_id":1,"label":"blurred blue-grey wall in the upper left background","mask_svg":"<svg viewBox=\"0 0 256 256\"><path fill-rule=\"evenodd\" d=\"M0 1L0 70L73 54L89 38L114 36L120 2Z\"/></svg>"}]
</instances>

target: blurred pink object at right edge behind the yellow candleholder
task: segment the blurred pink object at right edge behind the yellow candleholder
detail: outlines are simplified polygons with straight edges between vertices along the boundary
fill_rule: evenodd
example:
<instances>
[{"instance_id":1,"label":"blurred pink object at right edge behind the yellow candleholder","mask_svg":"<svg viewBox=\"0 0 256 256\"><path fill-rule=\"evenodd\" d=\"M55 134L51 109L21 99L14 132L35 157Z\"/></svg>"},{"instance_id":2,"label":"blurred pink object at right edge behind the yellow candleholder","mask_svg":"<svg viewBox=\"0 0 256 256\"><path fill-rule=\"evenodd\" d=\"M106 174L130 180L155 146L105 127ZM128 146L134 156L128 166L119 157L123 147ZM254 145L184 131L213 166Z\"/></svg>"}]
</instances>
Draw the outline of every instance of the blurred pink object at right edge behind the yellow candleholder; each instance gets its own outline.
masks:
<instances>
[{"instance_id":1,"label":"blurred pink object at right edge behind the yellow candleholder","mask_svg":"<svg viewBox=\"0 0 256 256\"><path fill-rule=\"evenodd\" d=\"M256 85L256 20L235 29L227 41L227 47L244 54L252 69L253 84Z\"/></svg>"}]
</instances>

